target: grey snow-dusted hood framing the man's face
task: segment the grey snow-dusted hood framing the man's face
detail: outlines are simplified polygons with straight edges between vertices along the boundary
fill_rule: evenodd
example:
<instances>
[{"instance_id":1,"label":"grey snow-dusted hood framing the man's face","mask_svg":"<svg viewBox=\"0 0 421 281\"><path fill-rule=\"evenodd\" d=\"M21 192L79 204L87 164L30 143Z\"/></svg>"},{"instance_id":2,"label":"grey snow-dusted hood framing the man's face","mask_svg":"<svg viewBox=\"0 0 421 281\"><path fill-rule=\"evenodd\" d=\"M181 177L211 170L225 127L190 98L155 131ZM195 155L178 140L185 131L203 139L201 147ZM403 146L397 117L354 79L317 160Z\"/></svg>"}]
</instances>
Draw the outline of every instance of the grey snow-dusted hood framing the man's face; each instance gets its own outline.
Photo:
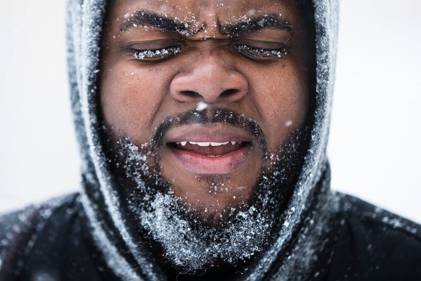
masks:
<instances>
[{"instance_id":1,"label":"grey snow-dusted hood framing the man's face","mask_svg":"<svg viewBox=\"0 0 421 281\"><path fill-rule=\"evenodd\" d=\"M337 0L312 0L314 7L316 97L312 131L303 168L277 238L240 279L304 279L317 260L337 208L330 192L326 155L335 72ZM100 141L97 79L100 36L106 0L69 0L67 4L68 73L82 157L82 203L92 237L113 272L124 280L163 280L148 249L129 235L113 190Z\"/></svg>"}]
</instances>

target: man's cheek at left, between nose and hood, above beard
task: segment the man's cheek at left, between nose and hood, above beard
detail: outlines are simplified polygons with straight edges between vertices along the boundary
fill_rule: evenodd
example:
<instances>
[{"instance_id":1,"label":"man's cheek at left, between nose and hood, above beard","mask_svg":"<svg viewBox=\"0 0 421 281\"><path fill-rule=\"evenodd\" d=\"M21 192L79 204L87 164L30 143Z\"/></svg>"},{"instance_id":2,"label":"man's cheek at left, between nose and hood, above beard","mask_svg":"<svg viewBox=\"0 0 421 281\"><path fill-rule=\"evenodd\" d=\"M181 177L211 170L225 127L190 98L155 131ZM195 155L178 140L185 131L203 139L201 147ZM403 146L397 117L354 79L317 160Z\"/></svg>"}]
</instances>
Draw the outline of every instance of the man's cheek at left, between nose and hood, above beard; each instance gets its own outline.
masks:
<instances>
[{"instance_id":1,"label":"man's cheek at left, between nose and hood, above beard","mask_svg":"<svg viewBox=\"0 0 421 281\"><path fill-rule=\"evenodd\" d=\"M130 64L115 65L101 75L101 108L105 121L136 143L151 139L153 116L164 98L165 79L159 71Z\"/></svg>"}]
</instances>

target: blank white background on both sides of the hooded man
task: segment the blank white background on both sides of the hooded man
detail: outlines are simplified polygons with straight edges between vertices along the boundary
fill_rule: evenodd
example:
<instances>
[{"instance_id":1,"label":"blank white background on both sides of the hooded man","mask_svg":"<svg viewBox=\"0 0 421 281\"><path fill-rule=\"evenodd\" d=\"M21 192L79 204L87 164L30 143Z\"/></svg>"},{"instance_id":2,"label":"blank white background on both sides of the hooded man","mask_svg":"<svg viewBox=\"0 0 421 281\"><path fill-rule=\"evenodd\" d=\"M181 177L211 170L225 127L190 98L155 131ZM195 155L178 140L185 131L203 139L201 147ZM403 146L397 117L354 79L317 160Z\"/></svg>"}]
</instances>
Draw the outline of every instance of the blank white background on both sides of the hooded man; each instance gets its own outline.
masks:
<instances>
[{"instance_id":1,"label":"blank white background on both sides of the hooded man","mask_svg":"<svg viewBox=\"0 0 421 281\"><path fill-rule=\"evenodd\" d=\"M421 223L421 1L345 0L332 188ZM64 1L0 9L0 212L79 189Z\"/></svg>"}]
</instances>

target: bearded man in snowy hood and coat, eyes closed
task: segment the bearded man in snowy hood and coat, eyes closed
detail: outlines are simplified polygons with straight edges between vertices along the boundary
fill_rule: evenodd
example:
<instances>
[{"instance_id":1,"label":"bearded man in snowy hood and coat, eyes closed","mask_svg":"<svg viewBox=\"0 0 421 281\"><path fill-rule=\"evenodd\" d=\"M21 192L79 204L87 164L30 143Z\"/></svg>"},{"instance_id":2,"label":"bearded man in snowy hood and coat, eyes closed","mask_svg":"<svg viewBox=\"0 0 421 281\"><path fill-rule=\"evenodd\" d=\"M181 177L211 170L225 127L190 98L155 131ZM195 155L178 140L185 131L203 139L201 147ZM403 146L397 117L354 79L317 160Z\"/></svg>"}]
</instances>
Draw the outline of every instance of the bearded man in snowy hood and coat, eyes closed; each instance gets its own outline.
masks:
<instances>
[{"instance_id":1,"label":"bearded man in snowy hood and coat, eyes closed","mask_svg":"<svg viewBox=\"0 0 421 281\"><path fill-rule=\"evenodd\" d=\"M329 189L335 1L71 1L83 192L2 217L0 280L417 280Z\"/></svg>"}]
</instances>

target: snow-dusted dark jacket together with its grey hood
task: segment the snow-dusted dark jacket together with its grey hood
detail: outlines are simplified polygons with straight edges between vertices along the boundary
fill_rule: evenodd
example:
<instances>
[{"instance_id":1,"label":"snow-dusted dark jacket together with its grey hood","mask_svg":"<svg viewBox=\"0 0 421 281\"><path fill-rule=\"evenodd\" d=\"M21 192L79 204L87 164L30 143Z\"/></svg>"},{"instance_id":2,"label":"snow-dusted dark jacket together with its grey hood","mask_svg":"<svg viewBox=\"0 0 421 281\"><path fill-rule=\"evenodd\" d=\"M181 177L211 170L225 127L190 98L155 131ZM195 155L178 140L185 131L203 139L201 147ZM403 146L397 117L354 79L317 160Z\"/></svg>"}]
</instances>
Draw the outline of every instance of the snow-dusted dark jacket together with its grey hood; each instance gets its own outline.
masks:
<instances>
[{"instance_id":1,"label":"snow-dusted dark jacket together with its grey hood","mask_svg":"<svg viewBox=\"0 0 421 281\"><path fill-rule=\"evenodd\" d=\"M313 0L316 96L311 138L274 243L239 280L421 280L421 228L330 190L326 155L336 0ZM82 191L0 218L0 281L165 280L130 236L100 141L97 78L105 0L68 1L68 71Z\"/></svg>"}]
</instances>

